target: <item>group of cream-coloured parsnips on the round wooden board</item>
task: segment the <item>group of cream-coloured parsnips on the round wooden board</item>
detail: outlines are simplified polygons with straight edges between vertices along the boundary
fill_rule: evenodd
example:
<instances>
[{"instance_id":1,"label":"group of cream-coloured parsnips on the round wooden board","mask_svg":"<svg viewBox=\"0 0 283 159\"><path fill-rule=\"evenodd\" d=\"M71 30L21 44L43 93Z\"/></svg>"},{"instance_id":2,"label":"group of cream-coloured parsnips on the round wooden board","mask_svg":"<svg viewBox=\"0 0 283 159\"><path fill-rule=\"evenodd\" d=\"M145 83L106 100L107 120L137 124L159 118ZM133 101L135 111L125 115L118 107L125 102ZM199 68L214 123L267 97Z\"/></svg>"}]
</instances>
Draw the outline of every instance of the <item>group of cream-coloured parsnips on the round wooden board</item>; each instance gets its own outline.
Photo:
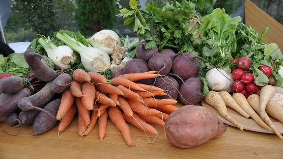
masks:
<instances>
[{"instance_id":1,"label":"group of cream-coloured parsnips on the round wooden board","mask_svg":"<svg viewBox=\"0 0 283 159\"><path fill-rule=\"evenodd\" d=\"M242 116L255 120L262 128L269 132L274 132L280 139L283 140L282 134L277 130L274 123L270 120L270 116L283 121L283 106L272 100L276 94L276 87L272 85L265 85L260 90L260 94L252 94L246 98L241 93L233 93L232 95L226 91L216 92L210 91L205 101L211 106L214 106L221 116L230 121L236 127L243 131L240 126L228 113L226 106L236 110Z\"/></svg>"}]
</instances>

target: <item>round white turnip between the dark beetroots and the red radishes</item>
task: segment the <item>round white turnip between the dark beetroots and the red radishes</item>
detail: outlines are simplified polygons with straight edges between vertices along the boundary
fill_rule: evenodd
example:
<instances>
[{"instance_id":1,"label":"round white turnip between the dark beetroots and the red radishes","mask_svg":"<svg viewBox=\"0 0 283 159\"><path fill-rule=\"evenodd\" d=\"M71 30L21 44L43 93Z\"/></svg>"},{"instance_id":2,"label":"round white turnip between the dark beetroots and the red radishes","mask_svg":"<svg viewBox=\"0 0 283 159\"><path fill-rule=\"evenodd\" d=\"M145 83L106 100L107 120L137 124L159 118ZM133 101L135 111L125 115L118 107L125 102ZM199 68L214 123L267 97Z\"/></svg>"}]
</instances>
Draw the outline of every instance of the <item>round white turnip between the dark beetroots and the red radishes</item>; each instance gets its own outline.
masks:
<instances>
[{"instance_id":1,"label":"round white turnip between the dark beetroots and the red radishes","mask_svg":"<svg viewBox=\"0 0 283 159\"><path fill-rule=\"evenodd\" d=\"M226 71L220 68L208 70L205 74L205 79L207 79L208 87L214 91L224 89L229 81Z\"/></svg>"}]
</instances>

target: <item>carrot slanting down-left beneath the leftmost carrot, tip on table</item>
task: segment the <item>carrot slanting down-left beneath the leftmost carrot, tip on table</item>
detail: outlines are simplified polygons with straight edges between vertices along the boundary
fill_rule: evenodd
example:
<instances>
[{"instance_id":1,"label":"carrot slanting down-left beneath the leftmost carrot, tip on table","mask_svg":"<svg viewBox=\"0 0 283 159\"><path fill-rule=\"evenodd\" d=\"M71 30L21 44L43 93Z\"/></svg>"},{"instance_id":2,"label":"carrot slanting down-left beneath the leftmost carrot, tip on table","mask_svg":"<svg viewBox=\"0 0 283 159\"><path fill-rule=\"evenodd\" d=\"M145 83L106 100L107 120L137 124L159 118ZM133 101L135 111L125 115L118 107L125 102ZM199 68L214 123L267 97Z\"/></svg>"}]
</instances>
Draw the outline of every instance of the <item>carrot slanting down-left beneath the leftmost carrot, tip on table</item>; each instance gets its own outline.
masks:
<instances>
[{"instance_id":1,"label":"carrot slanting down-left beneath the leftmost carrot, tip on table","mask_svg":"<svg viewBox=\"0 0 283 159\"><path fill-rule=\"evenodd\" d=\"M72 120L74 119L75 114L78 111L78 107L75 103L68 109L67 113L64 115L64 117L61 119L61 122L59 123L57 130L59 132L64 132L66 128L71 124Z\"/></svg>"}]
</instances>

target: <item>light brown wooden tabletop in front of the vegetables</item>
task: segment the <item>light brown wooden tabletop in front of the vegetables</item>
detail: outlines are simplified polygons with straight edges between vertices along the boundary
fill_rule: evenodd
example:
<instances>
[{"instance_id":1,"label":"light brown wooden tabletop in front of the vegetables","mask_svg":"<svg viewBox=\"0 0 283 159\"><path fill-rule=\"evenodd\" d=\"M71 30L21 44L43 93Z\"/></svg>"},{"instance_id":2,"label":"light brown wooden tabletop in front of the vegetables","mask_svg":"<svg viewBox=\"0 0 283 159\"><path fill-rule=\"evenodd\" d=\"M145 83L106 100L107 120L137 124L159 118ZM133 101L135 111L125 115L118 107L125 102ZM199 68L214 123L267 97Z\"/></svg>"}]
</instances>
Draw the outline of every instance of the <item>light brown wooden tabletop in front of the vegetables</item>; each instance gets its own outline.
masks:
<instances>
[{"instance_id":1,"label":"light brown wooden tabletop in front of the vegetables","mask_svg":"<svg viewBox=\"0 0 283 159\"><path fill-rule=\"evenodd\" d=\"M87 136L77 133L77 119L70 127L57 134L57 126L49 132L32 136L32 127L22 127L16 135L0 132L0 159L283 159L283 141L271 133L243 131L228 126L219 138L190 149L173 146L166 138L164 129L155 126L159 134L148 134L130 125L137 146L129 147L121 133L108 121L105 140L98 138L98 127ZM16 134L18 128L5 124L0 119L0 129ZM152 142L152 143L149 143Z\"/></svg>"}]
</instances>

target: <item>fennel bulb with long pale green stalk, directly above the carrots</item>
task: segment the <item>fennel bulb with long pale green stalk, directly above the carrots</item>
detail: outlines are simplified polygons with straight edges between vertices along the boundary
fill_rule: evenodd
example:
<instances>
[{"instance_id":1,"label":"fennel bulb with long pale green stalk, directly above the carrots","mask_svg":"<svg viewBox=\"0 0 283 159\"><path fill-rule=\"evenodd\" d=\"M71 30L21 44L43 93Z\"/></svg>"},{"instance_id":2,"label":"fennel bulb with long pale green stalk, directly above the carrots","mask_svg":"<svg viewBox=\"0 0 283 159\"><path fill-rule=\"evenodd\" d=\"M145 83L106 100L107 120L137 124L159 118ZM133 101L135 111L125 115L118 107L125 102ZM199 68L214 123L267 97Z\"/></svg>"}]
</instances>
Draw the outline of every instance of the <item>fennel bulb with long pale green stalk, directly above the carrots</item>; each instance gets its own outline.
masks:
<instances>
[{"instance_id":1,"label":"fennel bulb with long pale green stalk, directly above the carrots","mask_svg":"<svg viewBox=\"0 0 283 159\"><path fill-rule=\"evenodd\" d=\"M80 54L86 71L103 72L110 69L111 59L108 53L94 47L86 47L67 33L57 32L56 38Z\"/></svg>"}]
</instances>

